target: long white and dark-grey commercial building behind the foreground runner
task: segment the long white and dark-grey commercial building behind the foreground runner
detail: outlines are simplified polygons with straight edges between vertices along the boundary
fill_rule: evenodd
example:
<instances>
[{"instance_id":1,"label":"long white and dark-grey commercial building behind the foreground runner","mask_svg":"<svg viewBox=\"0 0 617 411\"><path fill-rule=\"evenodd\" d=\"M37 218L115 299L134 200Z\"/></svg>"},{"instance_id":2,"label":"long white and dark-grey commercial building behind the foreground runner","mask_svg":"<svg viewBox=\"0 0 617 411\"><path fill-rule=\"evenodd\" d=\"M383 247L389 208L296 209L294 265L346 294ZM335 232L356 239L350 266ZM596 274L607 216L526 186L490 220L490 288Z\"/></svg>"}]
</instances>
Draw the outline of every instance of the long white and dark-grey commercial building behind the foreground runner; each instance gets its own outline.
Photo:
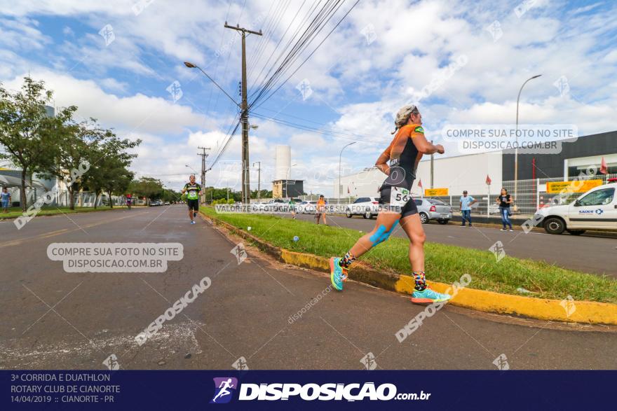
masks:
<instances>
[{"instance_id":1,"label":"long white and dark-grey commercial building behind the foreground runner","mask_svg":"<svg viewBox=\"0 0 617 411\"><path fill-rule=\"evenodd\" d=\"M489 202L492 201L489 199L494 199L493 196L505 187L509 193L517 192L516 201L523 212L533 213L554 195L546 187L546 183L550 181L569 181L581 172L588 174L589 179L603 180L606 176L617 174L617 131L592 134L578 137L575 141L563 140L559 143L559 153L519 153L516 189L513 150L445 158L436 155L432 173L430 155L425 155L416 170L412 195L441 197L457 205L458 197L463 190L467 190L484 201L479 210L487 210ZM603 160L606 173L599 174ZM490 186L487 185L487 177L490 179ZM334 182L334 197L376 196L384 179L384 173L374 167L341 176L340 185L338 179ZM430 188L434 190L427 191Z\"/></svg>"}]
</instances>

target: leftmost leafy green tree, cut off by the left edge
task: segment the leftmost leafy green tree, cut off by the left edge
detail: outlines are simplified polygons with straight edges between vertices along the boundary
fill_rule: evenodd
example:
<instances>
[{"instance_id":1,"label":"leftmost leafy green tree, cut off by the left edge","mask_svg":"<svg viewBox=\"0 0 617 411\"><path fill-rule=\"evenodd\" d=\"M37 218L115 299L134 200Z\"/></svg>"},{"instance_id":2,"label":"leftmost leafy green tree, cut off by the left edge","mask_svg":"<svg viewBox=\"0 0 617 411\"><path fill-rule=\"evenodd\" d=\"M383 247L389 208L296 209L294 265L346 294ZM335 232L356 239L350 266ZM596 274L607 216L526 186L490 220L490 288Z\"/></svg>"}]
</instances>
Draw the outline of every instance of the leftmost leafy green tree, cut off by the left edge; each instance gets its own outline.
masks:
<instances>
[{"instance_id":1,"label":"leftmost leafy green tree, cut off by the left edge","mask_svg":"<svg viewBox=\"0 0 617 411\"><path fill-rule=\"evenodd\" d=\"M0 144L6 153L0 158L8 159L21 168L20 202L26 211L26 177L35 172L46 171L53 166L56 157L57 138L62 136L65 124L76 111L75 106L60 110L55 117L48 116L45 109L53 96L46 90L43 81L25 77L21 90L10 92L0 85Z\"/></svg>"}]
</instances>

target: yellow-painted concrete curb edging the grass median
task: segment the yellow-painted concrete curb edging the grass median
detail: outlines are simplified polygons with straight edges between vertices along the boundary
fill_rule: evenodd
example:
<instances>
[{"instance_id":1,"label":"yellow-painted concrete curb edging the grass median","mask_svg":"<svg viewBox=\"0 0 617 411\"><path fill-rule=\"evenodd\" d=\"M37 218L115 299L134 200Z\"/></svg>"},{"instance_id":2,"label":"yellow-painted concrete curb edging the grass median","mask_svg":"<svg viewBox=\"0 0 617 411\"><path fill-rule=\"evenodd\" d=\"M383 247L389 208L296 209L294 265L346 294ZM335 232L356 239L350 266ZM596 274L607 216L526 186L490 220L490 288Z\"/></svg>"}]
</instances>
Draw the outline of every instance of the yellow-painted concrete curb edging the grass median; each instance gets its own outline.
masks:
<instances>
[{"instance_id":1,"label":"yellow-painted concrete curb edging the grass median","mask_svg":"<svg viewBox=\"0 0 617 411\"><path fill-rule=\"evenodd\" d=\"M283 263L321 272L330 272L328 258L280 249L272 244L264 242L264 240L254 235L250 235L248 232L234 225L218 220L217 218L205 216L205 214L201 215L213 224L221 225L240 237L250 240L255 243L259 249ZM350 271L349 278L378 288L384 288L388 291L396 291L403 294L411 294L414 290L414 279L412 277L408 275L379 272L362 263L355 263L353 265L353 270ZM439 293L445 293L448 288L452 288L451 284L434 281L427 282ZM477 309L483 312L515 314L533 319L564 321L569 323L617 325L617 305L605 302L547 300L543 298L475 290L473 288L459 288L458 293L450 300L449 304Z\"/></svg>"}]
</instances>

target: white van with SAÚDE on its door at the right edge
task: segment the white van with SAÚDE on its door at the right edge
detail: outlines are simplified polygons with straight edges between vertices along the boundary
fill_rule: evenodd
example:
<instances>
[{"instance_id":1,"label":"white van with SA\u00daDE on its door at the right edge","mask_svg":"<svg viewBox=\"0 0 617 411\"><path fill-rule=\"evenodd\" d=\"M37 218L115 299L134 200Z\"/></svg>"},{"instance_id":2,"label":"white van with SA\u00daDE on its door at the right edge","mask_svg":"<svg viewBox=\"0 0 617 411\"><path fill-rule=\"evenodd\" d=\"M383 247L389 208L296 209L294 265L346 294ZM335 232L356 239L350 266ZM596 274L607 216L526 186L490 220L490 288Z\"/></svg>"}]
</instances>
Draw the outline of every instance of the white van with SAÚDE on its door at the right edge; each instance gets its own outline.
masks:
<instances>
[{"instance_id":1,"label":"white van with SA\u00daDE on its door at the right edge","mask_svg":"<svg viewBox=\"0 0 617 411\"><path fill-rule=\"evenodd\" d=\"M544 207L536 211L534 221L541 221L549 234L567 230L581 235L585 230L617 230L617 183L592 188L565 205Z\"/></svg>"}]
</instances>

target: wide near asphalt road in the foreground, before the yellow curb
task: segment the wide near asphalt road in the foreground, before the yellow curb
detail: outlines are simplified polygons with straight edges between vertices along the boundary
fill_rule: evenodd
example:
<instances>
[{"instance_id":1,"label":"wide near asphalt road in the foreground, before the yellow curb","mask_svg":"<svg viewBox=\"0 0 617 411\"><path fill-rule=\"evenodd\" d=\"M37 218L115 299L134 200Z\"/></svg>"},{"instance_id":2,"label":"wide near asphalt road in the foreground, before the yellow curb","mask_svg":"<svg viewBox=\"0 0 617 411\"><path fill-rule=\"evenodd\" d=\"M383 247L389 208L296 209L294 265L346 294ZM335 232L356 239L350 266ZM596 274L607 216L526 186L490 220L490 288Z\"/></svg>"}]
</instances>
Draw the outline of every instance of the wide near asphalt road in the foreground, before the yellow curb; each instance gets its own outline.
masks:
<instances>
[{"instance_id":1,"label":"wide near asphalt road in the foreground, before the yellow curb","mask_svg":"<svg viewBox=\"0 0 617 411\"><path fill-rule=\"evenodd\" d=\"M236 244L201 219L189 225L179 205L37 217L20 231L4 221L0 239L2 368L104 369L115 354L123 369L231 369L240 357L250 369L362 369L368 353L383 369L496 369L501 354L511 369L617 368L609 328L452 306L398 342L395 333L424 307L353 281L329 292L323 274L250 248L238 264ZM46 256L53 242L180 242L184 258L164 273L67 273ZM203 294L135 342L205 276Z\"/></svg>"}]
</instances>

